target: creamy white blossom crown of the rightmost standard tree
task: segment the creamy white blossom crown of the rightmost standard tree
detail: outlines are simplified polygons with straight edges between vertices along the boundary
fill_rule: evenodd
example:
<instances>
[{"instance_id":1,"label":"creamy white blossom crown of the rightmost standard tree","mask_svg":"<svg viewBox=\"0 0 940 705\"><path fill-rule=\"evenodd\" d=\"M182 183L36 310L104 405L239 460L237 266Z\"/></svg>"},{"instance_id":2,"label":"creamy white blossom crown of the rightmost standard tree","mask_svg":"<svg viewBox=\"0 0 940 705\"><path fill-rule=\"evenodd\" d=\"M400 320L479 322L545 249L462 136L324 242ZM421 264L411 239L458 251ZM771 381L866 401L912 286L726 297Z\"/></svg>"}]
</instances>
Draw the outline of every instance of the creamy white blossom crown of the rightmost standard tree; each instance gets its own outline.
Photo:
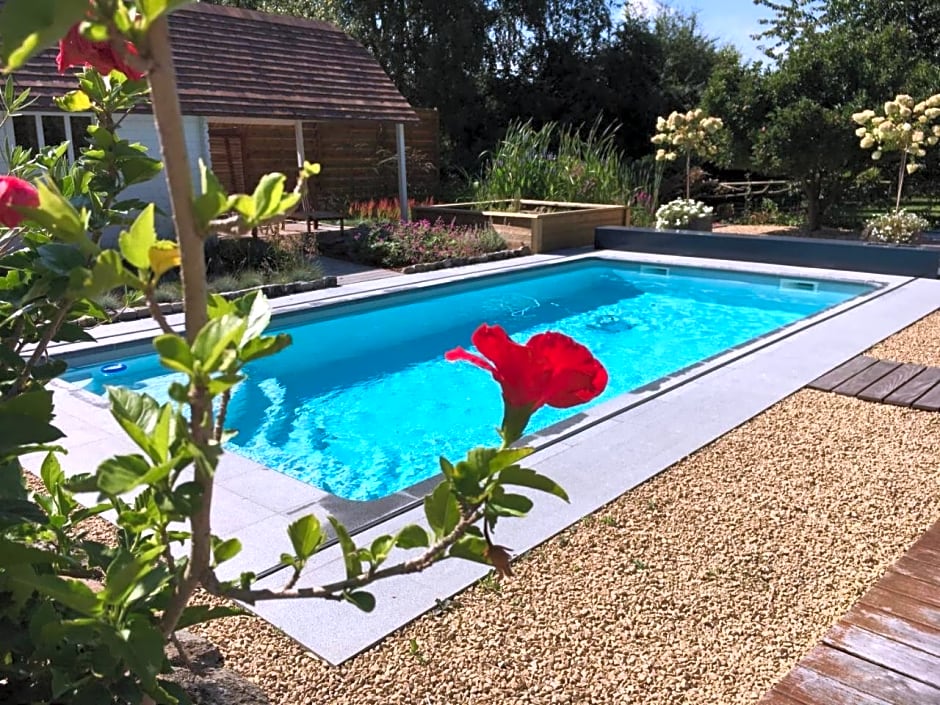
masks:
<instances>
[{"instance_id":1,"label":"creamy white blossom crown of the rightmost standard tree","mask_svg":"<svg viewBox=\"0 0 940 705\"><path fill-rule=\"evenodd\" d=\"M913 174L923 168L918 162L927 154L925 147L932 147L940 140L940 93L919 103L909 95L895 96L884 105L884 115L874 110L863 110L852 115L860 127L855 130L862 149L872 149L871 158L878 160L885 152L904 152L907 157L905 169Z\"/></svg>"}]
</instances>

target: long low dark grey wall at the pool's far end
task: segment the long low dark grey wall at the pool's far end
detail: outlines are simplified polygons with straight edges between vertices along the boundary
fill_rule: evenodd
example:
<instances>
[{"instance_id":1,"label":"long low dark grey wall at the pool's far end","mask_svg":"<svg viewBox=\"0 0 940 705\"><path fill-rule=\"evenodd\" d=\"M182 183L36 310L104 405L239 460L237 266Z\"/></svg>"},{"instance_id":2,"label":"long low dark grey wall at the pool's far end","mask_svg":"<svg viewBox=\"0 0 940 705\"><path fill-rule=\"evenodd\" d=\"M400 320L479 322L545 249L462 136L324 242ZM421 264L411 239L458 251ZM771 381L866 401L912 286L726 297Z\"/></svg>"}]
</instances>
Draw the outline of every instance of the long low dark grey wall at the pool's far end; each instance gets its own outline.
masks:
<instances>
[{"instance_id":1,"label":"long low dark grey wall at the pool's far end","mask_svg":"<svg viewBox=\"0 0 940 705\"><path fill-rule=\"evenodd\" d=\"M938 249L775 235L730 235L607 226L595 230L594 245L598 249L790 264L929 279L937 279L940 270Z\"/></svg>"}]
</instances>

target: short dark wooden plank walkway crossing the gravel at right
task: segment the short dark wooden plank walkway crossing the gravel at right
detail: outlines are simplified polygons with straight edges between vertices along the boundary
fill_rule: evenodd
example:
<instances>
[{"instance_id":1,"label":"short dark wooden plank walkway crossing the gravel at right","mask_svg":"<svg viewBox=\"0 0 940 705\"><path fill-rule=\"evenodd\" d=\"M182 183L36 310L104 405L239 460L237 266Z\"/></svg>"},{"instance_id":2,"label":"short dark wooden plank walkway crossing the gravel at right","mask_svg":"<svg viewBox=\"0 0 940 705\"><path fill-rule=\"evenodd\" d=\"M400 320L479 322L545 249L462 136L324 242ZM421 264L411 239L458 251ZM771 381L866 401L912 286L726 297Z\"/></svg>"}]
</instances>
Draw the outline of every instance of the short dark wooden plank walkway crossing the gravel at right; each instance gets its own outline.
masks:
<instances>
[{"instance_id":1,"label":"short dark wooden plank walkway crossing the gravel at right","mask_svg":"<svg viewBox=\"0 0 940 705\"><path fill-rule=\"evenodd\" d=\"M940 368L859 355L808 385L866 401L940 411Z\"/></svg>"}]
</instances>

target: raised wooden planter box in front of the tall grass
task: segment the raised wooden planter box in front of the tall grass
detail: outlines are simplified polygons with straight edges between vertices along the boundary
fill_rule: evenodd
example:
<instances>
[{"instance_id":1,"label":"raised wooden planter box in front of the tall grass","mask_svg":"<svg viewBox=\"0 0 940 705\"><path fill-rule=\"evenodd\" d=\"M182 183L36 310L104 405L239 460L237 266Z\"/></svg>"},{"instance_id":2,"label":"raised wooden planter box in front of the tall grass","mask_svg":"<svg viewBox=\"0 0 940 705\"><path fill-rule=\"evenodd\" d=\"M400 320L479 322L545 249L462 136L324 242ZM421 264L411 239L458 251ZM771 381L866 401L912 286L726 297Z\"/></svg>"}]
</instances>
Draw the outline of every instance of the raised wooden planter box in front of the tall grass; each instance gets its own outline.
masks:
<instances>
[{"instance_id":1,"label":"raised wooden planter box in front of the tall grass","mask_svg":"<svg viewBox=\"0 0 940 705\"><path fill-rule=\"evenodd\" d=\"M510 210L515 208L516 210ZM414 220L442 220L454 225L492 226L513 245L525 245L533 253L567 247L593 247L594 228L623 225L624 206L560 201L484 201L415 206Z\"/></svg>"}]
</instances>

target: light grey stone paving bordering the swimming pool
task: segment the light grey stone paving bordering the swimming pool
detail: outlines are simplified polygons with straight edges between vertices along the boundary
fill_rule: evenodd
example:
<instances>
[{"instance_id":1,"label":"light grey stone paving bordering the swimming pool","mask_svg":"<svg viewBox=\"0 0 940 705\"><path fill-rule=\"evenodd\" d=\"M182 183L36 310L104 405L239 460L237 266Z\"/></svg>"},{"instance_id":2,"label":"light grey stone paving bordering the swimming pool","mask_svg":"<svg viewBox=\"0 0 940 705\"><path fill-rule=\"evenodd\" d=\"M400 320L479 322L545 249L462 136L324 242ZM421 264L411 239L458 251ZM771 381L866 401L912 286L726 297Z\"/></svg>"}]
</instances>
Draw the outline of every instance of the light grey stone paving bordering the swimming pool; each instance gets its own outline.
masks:
<instances>
[{"instance_id":1,"label":"light grey stone paving bordering the swimming pool","mask_svg":"<svg viewBox=\"0 0 940 705\"><path fill-rule=\"evenodd\" d=\"M940 282L937 281L843 270L611 251L536 255L511 263L503 261L488 263L491 266L474 265L410 275L406 281L400 277L373 280L348 288L342 287L347 289L346 292L337 289L310 292L308 295L284 297L286 300L272 303L278 312L297 310L310 305L311 301L304 299L313 299L313 302L335 299L338 292L339 295L351 294L348 298L352 300L378 292L421 288L445 281L465 281L495 271L571 261L589 255L773 276L881 282L883 288L752 341L741 346L740 350L723 353L708 364L699 364L681 374L670 376L666 378L666 384L657 382L655 388L621 395L595 407L593 415L586 414L587 418L579 420L575 425L560 432L555 431L556 437L550 439L552 444L531 456L528 465L565 486L571 495L571 503L563 504L552 498L537 497L532 516L522 522L501 524L500 542L507 543L517 551L528 550L547 540L582 516L596 511L685 455L747 421L828 369L863 352L875 342L940 306ZM394 284L390 286L392 282ZM179 320L174 321L171 317L171 325L180 323L181 317L177 318ZM113 349L120 341L126 342L154 332L153 327L147 326L126 328L137 330L115 331L114 335L103 336L108 339L105 345ZM59 346L56 352L74 352L81 347ZM70 387L65 383L54 385L56 411L59 415L57 422L69 434L66 440L70 453L63 459L66 472L72 474L91 469L115 452L132 452L130 442L119 435L116 424L107 414L101 403L103 400L94 397L99 403L89 403L86 397L93 395L76 393ZM732 392L735 397L733 400L727 398ZM625 404L625 401L628 403ZM614 402L618 402L616 406L612 406ZM712 413L702 418L703 409L710 409ZM627 468L622 467L625 460L629 461L626 462L629 465ZM582 478L572 468L585 462L592 463L595 472L602 471L600 479L590 483L578 482ZM592 472L592 477L595 472ZM223 566L222 577L234 577L242 570L258 572L261 565L275 563L280 553L289 546L286 526L290 521L308 513L311 507L329 511L328 503L322 503L324 498L316 496L316 493L325 493L234 454L226 454L223 458L217 482L214 530L222 536L238 535L245 545L243 553L235 561ZM432 478L425 482L434 484L436 480ZM416 487L421 488L422 492L426 490L421 484ZM419 494L415 490L411 501L417 501ZM311 497L313 501L308 501ZM360 540L371 540L371 537L394 531L405 523L422 523L420 507L405 509L404 512L402 509L402 506L394 508L394 516L382 525L365 529ZM312 561L310 569L301 579L301 585L309 583L312 572L317 573L320 580L341 577L341 568L337 549L326 549ZM325 574L318 569L325 571ZM368 616L361 615L350 605L325 601L272 602L259 604L254 610L326 661L341 663L433 608L438 600L453 595L486 572L484 566L448 561L436 566L428 574L380 583L373 589L379 597L379 606L375 613ZM274 575L263 580L262 584L276 586L280 579L280 576Z\"/></svg>"}]
</instances>

